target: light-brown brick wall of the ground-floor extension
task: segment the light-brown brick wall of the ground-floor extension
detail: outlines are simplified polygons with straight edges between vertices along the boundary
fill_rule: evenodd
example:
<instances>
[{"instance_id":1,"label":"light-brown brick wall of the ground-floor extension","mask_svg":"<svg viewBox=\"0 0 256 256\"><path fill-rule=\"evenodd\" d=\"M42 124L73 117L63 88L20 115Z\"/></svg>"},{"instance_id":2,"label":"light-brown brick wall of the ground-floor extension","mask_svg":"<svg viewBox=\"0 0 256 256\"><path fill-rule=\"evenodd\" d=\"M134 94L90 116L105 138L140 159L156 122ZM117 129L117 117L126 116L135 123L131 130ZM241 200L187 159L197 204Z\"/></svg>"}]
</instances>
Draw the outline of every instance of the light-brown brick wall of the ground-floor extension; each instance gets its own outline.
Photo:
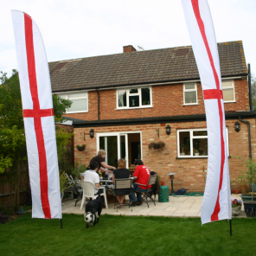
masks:
<instances>
[{"instance_id":1,"label":"light-brown brick wall of the ground-floor extension","mask_svg":"<svg viewBox=\"0 0 256 256\"><path fill-rule=\"evenodd\" d=\"M240 171L245 170L245 166L241 164L241 159L235 157L249 156L248 151L248 132L247 125L240 122L240 131L234 131L234 124L238 121L227 120L229 138L230 158L229 170L230 178L234 180L240 175ZM256 157L256 132L255 119L248 119L251 123L252 136L252 150L253 157ZM171 134L166 134L166 125L170 125ZM168 173L177 173L174 179L174 189L189 189L189 191L202 192L205 187L205 180L203 176L203 168L207 172L208 158L187 158L176 159L177 157L177 130L178 129L194 129L206 128L206 122L183 122L183 123L166 123L156 125L119 125L106 127L89 127L89 128L74 128L74 145L86 144L86 150L78 151L74 147L74 159L84 164L88 164L90 159L96 155L96 133L98 132L114 132L114 131L142 131L142 159L144 164L150 168L151 171L156 171L161 176L161 180L165 182L170 188L170 176ZM90 129L94 130L95 137L89 137ZM159 128L159 138L157 137L156 128ZM80 132L86 133L86 141L80 136ZM163 150L149 150L148 144L152 141L163 141L165 147ZM232 185L232 189L235 186Z\"/></svg>"}]
</instances>

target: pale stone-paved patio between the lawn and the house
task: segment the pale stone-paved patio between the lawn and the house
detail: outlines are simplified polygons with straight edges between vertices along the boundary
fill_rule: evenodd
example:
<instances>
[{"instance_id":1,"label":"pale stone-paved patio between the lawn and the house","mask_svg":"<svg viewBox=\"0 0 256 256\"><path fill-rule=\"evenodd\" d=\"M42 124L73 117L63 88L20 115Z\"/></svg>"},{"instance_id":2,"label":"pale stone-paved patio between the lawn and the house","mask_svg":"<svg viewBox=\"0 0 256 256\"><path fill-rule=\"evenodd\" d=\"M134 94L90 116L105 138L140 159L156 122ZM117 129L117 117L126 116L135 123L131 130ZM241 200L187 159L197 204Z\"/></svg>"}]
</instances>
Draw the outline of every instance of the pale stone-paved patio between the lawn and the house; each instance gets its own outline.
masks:
<instances>
[{"instance_id":1,"label":"pale stone-paved patio between the lawn and the house","mask_svg":"<svg viewBox=\"0 0 256 256\"><path fill-rule=\"evenodd\" d=\"M240 200L240 194L232 194L231 199L238 198ZM128 201L129 198L126 197ZM69 199L62 205L62 214L84 214L85 207L80 210L80 202L74 207L75 199ZM112 215L144 215L144 216L172 216L172 217L200 217L200 208L202 205L202 196L169 196L169 202L158 202L158 196L156 198L156 206L153 202L149 203L150 208L147 204L136 206L132 208L123 207L114 209L114 203L108 204L108 209L103 208L101 214L112 214ZM243 207L239 216L234 218L246 217Z\"/></svg>"}]
</instances>

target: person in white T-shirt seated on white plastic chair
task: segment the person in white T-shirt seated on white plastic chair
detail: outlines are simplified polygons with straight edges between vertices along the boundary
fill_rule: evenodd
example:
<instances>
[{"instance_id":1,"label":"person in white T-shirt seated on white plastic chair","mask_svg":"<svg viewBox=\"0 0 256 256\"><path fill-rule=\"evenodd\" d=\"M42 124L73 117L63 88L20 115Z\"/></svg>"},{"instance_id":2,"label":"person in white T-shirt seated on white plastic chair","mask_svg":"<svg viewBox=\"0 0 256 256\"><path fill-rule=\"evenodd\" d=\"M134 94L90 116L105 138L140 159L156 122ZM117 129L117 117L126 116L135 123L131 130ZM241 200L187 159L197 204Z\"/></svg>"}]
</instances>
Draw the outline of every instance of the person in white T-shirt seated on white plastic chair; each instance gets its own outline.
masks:
<instances>
[{"instance_id":1,"label":"person in white T-shirt seated on white plastic chair","mask_svg":"<svg viewBox=\"0 0 256 256\"><path fill-rule=\"evenodd\" d=\"M91 170L86 170L83 175L81 176L81 179L85 182L92 182L96 188L99 188L99 174L97 171L99 170L99 163L98 162L91 162L90 163ZM107 189L106 189L106 195L107 195ZM95 189L94 195L100 195L103 193L103 189ZM101 203L104 205L104 196L100 196Z\"/></svg>"}]
</instances>

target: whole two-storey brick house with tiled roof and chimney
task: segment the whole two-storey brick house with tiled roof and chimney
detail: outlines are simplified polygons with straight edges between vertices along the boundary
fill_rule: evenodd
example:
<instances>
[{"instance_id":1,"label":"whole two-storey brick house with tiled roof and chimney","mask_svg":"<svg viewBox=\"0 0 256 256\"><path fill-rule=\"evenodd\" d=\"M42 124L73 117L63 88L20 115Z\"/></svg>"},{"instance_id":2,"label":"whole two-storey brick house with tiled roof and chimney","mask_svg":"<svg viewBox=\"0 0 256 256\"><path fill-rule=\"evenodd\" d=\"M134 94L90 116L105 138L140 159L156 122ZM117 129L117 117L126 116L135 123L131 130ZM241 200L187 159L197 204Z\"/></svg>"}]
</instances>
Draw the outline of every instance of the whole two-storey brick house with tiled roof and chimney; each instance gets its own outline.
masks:
<instances>
[{"instance_id":1,"label":"whole two-storey brick house with tiled roof and chimney","mask_svg":"<svg viewBox=\"0 0 256 256\"><path fill-rule=\"evenodd\" d=\"M250 111L247 68L242 42L218 43L227 122L231 180L243 166L235 156L256 154L255 112ZM202 86L191 46L110 54L49 63L53 93L74 104L66 117L74 125L74 160L88 164L99 149L106 163L127 167L142 158L170 187L203 191L208 165L207 125ZM240 131L234 124L240 123ZM167 126L170 134L167 134ZM94 137L90 137L93 131ZM150 150L151 142L165 143ZM80 152L77 144L86 144ZM234 188L233 188L234 189Z\"/></svg>"}]
</instances>

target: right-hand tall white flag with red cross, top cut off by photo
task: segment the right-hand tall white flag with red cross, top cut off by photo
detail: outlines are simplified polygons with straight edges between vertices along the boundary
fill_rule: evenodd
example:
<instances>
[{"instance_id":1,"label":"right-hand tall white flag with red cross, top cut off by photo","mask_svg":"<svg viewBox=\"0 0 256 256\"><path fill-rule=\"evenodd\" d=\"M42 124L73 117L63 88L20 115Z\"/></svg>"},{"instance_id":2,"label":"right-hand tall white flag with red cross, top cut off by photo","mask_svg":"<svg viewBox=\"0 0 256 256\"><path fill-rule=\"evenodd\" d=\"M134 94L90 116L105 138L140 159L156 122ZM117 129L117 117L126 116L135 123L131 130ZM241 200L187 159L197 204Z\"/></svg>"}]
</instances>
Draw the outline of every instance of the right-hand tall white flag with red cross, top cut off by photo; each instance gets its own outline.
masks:
<instances>
[{"instance_id":1,"label":"right-hand tall white flag with red cross, top cut off by photo","mask_svg":"<svg viewBox=\"0 0 256 256\"><path fill-rule=\"evenodd\" d=\"M231 220L226 123L214 24L207 0L182 0L182 6L202 83L208 128L208 175L201 220L202 224Z\"/></svg>"}]
</instances>

